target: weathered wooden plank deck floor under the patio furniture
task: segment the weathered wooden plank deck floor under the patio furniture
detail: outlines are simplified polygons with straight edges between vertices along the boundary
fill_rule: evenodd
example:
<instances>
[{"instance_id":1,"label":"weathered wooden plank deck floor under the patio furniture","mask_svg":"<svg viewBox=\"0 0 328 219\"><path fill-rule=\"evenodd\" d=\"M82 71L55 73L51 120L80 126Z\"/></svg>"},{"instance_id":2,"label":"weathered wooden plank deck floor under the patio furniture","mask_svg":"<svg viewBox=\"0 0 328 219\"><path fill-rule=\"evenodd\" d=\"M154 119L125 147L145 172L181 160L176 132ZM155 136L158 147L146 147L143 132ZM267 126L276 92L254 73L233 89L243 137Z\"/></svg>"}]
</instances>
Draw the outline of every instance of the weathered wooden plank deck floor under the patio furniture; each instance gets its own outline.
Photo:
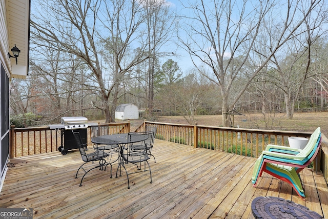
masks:
<instances>
[{"instance_id":1,"label":"weathered wooden plank deck floor under the patio furniture","mask_svg":"<svg viewBox=\"0 0 328 219\"><path fill-rule=\"evenodd\" d=\"M79 187L79 152L50 152L10 161L0 208L33 208L33 218L253 218L252 200L279 196L328 218L328 188L322 174L301 172L306 202L292 187L264 174L251 184L255 158L195 149L155 140L149 172L125 172L110 178L109 169L90 171ZM14 167L13 167L14 166Z\"/></svg>"}]
</instances>

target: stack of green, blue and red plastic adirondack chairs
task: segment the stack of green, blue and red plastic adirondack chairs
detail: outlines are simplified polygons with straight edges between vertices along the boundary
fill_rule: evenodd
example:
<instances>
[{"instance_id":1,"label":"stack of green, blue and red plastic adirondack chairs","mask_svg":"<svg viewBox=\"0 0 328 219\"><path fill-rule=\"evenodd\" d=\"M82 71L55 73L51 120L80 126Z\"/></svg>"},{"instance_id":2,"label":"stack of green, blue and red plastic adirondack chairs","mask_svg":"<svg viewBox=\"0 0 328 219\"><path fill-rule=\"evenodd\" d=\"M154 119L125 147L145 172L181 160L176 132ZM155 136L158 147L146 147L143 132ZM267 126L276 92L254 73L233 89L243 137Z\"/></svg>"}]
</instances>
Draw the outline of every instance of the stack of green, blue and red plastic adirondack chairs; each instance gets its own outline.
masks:
<instances>
[{"instance_id":1,"label":"stack of green, blue and red plastic adirondack chairs","mask_svg":"<svg viewBox=\"0 0 328 219\"><path fill-rule=\"evenodd\" d=\"M308 166L319 152L321 144L320 127L311 135L303 150L285 146L268 145L255 163L252 183L256 187L259 176L267 172L289 183L297 194L304 199L304 188L299 172Z\"/></svg>"}]
</instances>

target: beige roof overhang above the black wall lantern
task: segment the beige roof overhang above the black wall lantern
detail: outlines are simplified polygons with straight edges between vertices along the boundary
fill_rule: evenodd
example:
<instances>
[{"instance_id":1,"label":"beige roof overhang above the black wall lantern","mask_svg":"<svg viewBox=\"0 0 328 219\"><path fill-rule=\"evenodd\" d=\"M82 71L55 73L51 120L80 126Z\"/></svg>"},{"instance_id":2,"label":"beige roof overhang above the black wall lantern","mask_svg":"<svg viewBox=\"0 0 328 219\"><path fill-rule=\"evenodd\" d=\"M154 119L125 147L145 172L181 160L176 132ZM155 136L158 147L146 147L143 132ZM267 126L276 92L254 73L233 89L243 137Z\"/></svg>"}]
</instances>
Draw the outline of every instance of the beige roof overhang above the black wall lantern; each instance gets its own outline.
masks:
<instances>
[{"instance_id":1,"label":"beige roof overhang above the black wall lantern","mask_svg":"<svg viewBox=\"0 0 328 219\"><path fill-rule=\"evenodd\" d=\"M29 69L30 50L30 0L7 0L7 24L9 37L9 52L16 47L20 50L17 58L10 58L12 66L11 77L25 79Z\"/></svg>"}]
</instances>

